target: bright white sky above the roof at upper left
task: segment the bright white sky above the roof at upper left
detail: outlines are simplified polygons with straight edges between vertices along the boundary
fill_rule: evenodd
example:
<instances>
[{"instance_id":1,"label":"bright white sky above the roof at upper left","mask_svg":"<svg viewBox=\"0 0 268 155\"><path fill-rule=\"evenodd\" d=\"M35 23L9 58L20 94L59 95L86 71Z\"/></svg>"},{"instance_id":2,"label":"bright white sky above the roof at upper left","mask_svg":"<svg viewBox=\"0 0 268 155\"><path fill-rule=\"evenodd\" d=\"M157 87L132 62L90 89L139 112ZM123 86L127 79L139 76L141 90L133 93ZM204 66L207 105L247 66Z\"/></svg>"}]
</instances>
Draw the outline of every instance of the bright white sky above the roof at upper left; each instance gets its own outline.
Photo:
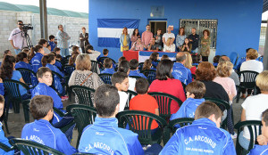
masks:
<instances>
[{"instance_id":1,"label":"bright white sky above the roof at upper left","mask_svg":"<svg viewBox=\"0 0 268 155\"><path fill-rule=\"evenodd\" d=\"M89 0L46 0L46 7L51 7L60 10L68 10L73 12L88 13ZM39 6L39 0L0 0L9 4L29 4Z\"/></svg>"}]
</instances>

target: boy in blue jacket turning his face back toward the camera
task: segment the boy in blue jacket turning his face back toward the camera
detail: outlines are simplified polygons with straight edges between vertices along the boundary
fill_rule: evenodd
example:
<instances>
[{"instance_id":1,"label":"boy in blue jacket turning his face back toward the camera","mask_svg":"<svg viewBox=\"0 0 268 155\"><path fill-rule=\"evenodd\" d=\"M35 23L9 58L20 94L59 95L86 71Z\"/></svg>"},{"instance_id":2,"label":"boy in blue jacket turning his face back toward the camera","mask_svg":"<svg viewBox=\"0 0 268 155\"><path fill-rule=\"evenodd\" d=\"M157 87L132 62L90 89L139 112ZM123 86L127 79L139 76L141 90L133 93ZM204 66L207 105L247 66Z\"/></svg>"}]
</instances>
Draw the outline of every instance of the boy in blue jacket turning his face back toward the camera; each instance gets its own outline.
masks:
<instances>
[{"instance_id":1,"label":"boy in blue jacket turning his face back toward the camera","mask_svg":"<svg viewBox=\"0 0 268 155\"><path fill-rule=\"evenodd\" d=\"M37 77L39 84L36 86L32 91L32 98L37 95L48 95L53 98L54 101L54 108L58 110L63 110L63 102L61 97L54 91L52 87L53 77L52 77L52 71L46 67L41 67L38 69ZM52 123L55 124L59 122L62 118L58 116L56 113L54 113L54 118L52 119Z\"/></svg>"}]
</instances>

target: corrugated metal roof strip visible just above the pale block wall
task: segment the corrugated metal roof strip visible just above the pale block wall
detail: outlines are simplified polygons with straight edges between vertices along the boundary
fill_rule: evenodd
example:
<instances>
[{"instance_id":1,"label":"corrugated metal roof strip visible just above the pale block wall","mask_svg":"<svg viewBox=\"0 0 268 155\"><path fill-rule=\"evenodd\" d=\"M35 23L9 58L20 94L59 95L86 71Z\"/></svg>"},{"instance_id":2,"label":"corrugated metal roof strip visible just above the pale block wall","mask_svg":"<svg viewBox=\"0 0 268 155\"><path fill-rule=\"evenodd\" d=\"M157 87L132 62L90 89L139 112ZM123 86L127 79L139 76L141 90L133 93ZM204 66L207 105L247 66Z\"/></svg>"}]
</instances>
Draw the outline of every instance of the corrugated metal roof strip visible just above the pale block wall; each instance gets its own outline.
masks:
<instances>
[{"instance_id":1,"label":"corrugated metal roof strip visible just above the pale block wall","mask_svg":"<svg viewBox=\"0 0 268 155\"><path fill-rule=\"evenodd\" d=\"M13 11L13 12L33 12L39 13L39 7L34 5L25 4L9 4L0 2L0 10ZM59 10L54 8L47 8L48 15L67 16L88 19L88 13L85 12L71 12L65 10Z\"/></svg>"}]
</instances>

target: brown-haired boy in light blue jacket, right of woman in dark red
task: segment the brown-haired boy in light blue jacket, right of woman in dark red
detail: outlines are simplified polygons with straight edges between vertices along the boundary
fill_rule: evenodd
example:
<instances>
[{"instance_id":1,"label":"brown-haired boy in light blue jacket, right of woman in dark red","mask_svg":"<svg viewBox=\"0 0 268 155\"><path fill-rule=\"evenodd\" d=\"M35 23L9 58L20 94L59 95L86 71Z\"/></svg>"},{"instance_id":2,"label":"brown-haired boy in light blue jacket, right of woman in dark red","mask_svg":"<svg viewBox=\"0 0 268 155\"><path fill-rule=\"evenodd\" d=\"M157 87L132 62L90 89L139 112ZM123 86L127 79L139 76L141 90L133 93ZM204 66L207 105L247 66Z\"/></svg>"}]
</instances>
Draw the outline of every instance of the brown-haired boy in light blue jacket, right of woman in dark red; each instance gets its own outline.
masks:
<instances>
[{"instance_id":1,"label":"brown-haired boy in light blue jacket, right of woman in dark red","mask_svg":"<svg viewBox=\"0 0 268 155\"><path fill-rule=\"evenodd\" d=\"M201 81L194 81L185 87L187 92L187 100L182 103L180 110L172 114L171 120L175 118L195 118L197 107L205 102L203 98L205 94L205 85ZM180 126L178 126L180 127Z\"/></svg>"}]
</instances>

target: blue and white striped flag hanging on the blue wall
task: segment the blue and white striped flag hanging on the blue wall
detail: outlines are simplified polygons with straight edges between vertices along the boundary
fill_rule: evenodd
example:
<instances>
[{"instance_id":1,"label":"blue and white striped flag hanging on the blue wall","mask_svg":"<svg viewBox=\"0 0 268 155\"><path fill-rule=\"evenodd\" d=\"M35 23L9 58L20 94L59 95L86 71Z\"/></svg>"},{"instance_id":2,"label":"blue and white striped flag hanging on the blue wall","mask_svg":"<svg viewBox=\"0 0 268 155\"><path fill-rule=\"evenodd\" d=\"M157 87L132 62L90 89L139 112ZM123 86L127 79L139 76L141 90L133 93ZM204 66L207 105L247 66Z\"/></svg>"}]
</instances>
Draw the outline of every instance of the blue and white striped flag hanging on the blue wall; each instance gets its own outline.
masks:
<instances>
[{"instance_id":1,"label":"blue and white striped flag hanging on the blue wall","mask_svg":"<svg viewBox=\"0 0 268 155\"><path fill-rule=\"evenodd\" d=\"M138 24L135 19L97 19L98 46L119 48L122 29L126 27L131 36Z\"/></svg>"}]
</instances>

